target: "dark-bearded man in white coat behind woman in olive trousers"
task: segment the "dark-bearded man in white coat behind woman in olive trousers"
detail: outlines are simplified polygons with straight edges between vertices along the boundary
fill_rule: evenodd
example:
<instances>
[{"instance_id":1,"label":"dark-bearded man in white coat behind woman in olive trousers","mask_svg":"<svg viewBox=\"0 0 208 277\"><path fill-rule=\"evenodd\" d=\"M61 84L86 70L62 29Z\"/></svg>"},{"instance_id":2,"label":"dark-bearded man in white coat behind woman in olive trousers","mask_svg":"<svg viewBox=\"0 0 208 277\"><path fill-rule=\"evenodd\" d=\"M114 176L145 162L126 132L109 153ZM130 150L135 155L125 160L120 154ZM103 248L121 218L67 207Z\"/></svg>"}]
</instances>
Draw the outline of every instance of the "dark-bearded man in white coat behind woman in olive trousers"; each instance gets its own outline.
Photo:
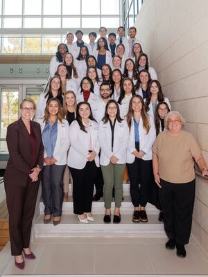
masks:
<instances>
[{"instance_id":1,"label":"dark-bearded man in white coat behind woman in olive trousers","mask_svg":"<svg viewBox=\"0 0 208 277\"><path fill-rule=\"evenodd\" d=\"M110 88L109 82L102 82L100 86L100 96L101 98L96 101L95 105L92 105L92 114L93 117L96 119L97 123L99 123L104 115L105 115L105 106L107 104L107 101L110 100L112 90ZM121 118L123 118L123 111L121 108L121 105L119 105L120 108L120 115ZM103 175L101 172L101 168L97 168L97 175L96 175L96 193L93 197L94 201L100 200L101 197L103 197Z\"/></svg>"}]
</instances>

